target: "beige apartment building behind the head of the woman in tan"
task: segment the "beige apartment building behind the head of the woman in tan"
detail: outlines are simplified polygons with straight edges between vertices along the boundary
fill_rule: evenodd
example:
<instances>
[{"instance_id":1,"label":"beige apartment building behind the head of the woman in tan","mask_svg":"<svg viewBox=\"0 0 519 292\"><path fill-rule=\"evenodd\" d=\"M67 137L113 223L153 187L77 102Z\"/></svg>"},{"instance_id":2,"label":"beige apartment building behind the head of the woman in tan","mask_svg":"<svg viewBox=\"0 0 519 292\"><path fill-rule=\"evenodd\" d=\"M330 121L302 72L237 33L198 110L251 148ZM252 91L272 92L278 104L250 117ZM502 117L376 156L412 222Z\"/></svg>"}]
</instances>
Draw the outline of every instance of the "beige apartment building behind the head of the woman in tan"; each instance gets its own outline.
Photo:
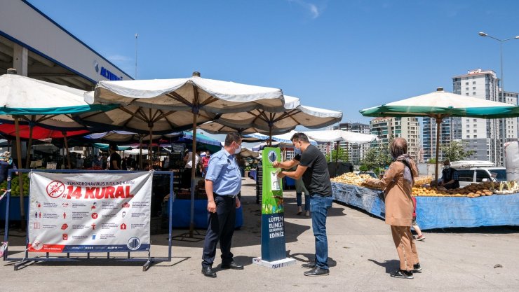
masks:
<instances>
[{"instance_id":1,"label":"beige apartment building behind the head of the woman in tan","mask_svg":"<svg viewBox=\"0 0 519 292\"><path fill-rule=\"evenodd\" d=\"M414 161L422 162L420 149L420 125L417 118L374 118L370 121L371 134L379 137L372 146L388 145L393 138L407 140L407 153Z\"/></svg>"}]
</instances>

